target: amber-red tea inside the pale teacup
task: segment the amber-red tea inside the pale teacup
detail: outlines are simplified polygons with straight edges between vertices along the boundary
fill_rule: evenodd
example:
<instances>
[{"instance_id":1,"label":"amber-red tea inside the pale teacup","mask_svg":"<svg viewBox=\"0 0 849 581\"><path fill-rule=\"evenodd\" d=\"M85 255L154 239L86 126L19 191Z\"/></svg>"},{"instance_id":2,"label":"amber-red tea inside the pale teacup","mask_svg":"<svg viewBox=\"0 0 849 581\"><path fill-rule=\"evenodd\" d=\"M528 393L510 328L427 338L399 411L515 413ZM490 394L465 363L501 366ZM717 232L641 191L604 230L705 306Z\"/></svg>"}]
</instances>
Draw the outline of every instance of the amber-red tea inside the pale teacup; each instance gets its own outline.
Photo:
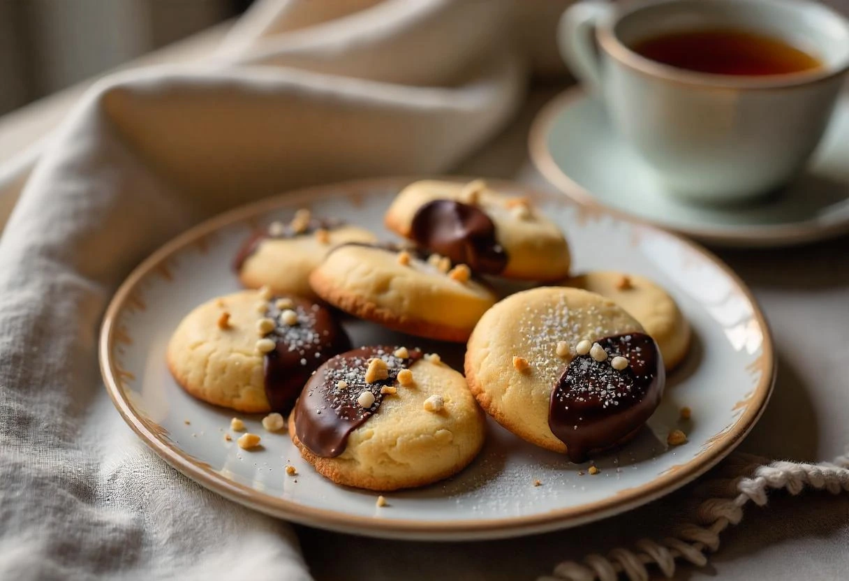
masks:
<instances>
[{"instance_id":1,"label":"amber-red tea inside the pale teacup","mask_svg":"<svg viewBox=\"0 0 849 581\"><path fill-rule=\"evenodd\" d=\"M638 42L633 50L664 65L717 75L786 75L820 66L787 42L748 31L675 32Z\"/></svg>"}]
</instances>

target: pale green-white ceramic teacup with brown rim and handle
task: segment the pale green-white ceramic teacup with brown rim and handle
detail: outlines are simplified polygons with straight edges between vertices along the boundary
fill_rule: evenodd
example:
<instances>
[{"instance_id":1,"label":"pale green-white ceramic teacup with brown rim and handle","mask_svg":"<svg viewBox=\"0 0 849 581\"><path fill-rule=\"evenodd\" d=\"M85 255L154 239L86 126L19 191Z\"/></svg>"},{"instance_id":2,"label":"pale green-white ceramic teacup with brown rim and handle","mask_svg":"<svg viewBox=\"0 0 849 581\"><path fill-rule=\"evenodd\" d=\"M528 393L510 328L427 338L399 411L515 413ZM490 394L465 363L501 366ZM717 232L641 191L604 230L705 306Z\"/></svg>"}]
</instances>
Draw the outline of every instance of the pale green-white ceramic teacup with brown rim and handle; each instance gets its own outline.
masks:
<instances>
[{"instance_id":1,"label":"pale green-white ceramic teacup with brown rim and handle","mask_svg":"<svg viewBox=\"0 0 849 581\"><path fill-rule=\"evenodd\" d=\"M730 76L679 69L630 47L660 35L752 31L805 50L821 67ZM807 0L583 0L559 26L566 64L604 99L615 126L668 191L726 202L762 195L816 148L849 70L849 22ZM849 163L849 160L846 160Z\"/></svg>"}]
</instances>

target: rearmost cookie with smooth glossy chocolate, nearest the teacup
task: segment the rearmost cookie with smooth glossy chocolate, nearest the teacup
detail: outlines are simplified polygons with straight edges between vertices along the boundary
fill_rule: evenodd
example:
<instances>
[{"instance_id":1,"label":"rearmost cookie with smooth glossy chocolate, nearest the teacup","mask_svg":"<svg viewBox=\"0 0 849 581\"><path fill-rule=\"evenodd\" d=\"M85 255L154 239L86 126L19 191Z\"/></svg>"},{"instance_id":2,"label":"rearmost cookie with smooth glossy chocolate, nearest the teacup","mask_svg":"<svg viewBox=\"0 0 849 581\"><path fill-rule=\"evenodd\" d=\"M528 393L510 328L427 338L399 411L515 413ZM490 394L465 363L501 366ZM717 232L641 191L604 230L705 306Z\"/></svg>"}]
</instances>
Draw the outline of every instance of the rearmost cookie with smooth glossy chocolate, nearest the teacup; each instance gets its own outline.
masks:
<instances>
[{"instance_id":1,"label":"rearmost cookie with smooth glossy chocolate, nearest the teacup","mask_svg":"<svg viewBox=\"0 0 849 581\"><path fill-rule=\"evenodd\" d=\"M385 224L476 273L554 281L569 272L569 245L559 228L530 200L483 180L411 183L392 202Z\"/></svg>"}]
</instances>

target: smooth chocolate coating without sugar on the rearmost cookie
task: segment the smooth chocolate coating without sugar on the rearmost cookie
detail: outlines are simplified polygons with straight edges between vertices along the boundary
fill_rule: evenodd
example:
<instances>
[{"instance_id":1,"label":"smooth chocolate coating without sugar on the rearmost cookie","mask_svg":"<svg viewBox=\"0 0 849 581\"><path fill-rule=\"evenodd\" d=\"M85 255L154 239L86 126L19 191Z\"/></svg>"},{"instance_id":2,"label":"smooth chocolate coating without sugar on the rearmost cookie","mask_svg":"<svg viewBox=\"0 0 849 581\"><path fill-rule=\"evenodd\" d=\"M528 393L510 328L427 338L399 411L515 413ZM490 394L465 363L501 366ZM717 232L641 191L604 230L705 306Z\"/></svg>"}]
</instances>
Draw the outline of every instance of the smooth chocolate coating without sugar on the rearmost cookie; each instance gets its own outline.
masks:
<instances>
[{"instance_id":1,"label":"smooth chocolate coating without sugar on the rearmost cookie","mask_svg":"<svg viewBox=\"0 0 849 581\"><path fill-rule=\"evenodd\" d=\"M410 236L416 244L477 273L499 274L507 266L507 252L498 244L495 223L478 206L430 201L413 216Z\"/></svg>"}]
</instances>

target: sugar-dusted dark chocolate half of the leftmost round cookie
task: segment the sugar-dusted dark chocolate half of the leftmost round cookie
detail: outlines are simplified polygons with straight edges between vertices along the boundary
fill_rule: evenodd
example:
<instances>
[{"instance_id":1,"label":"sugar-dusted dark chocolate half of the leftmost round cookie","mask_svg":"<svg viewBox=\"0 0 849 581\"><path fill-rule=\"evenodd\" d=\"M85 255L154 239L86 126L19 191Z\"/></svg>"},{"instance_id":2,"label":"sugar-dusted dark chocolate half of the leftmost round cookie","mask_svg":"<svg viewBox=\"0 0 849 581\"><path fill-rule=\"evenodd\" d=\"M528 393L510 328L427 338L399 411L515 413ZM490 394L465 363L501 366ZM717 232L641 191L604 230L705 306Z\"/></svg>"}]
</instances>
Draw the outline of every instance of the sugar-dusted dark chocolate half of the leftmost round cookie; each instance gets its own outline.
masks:
<instances>
[{"instance_id":1,"label":"sugar-dusted dark chocolate half of the leftmost round cookie","mask_svg":"<svg viewBox=\"0 0 849 581\"><path fill-rule=\"evenodd\" d=\"M312 372L350 349L351 340L327 308L295 296L289 298L295 302L292 310L298 324L281 323L277 298L269 302L266 313L277 326L266 336L276 347L265 356L265 392L271 409L288 415Z\"/></svg>"}]
</instances>

